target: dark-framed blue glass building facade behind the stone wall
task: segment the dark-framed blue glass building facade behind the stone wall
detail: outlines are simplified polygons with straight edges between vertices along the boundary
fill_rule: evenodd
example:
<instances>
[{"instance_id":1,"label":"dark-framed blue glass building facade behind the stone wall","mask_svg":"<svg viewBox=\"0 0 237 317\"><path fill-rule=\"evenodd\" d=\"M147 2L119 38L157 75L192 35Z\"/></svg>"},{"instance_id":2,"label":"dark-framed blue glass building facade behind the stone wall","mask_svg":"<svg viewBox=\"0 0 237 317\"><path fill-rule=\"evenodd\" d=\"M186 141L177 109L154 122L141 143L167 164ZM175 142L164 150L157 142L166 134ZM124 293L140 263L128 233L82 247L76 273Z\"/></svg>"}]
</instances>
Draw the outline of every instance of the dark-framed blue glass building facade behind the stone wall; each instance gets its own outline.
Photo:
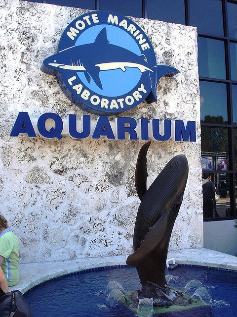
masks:
<instances>
[{"instance_id":1,"label":"dark-framed blue glass building facade behind the stone wall","mask_svg":"<svg viewBox=\"0 0 237 317\"><path fill-rule=\"evenodd\" d=\"M237 217L237 0L43 0L197 27L201 164L212 175L216 211Z\"/></svg>"}]
</instances>

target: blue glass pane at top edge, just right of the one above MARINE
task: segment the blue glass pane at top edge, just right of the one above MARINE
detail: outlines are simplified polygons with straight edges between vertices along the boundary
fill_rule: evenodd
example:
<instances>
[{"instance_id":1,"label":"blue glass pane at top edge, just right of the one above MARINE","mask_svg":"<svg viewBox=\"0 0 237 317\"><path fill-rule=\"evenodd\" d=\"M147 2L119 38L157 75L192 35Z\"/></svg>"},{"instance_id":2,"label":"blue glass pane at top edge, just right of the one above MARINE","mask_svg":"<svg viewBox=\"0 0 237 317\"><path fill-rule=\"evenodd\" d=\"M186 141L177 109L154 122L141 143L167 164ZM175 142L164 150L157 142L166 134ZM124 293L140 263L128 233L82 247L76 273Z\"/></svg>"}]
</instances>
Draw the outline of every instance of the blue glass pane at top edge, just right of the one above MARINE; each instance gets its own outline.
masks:
<instances>
[{"instance_id":1,"label":"blue glass pane at top edge, just right of the one above MARINE","mask_svg":"<svg viewBox=\"0 0 237 317\"><path fill-rule=\"evenodd\" d=\"M147 17L185 25L184 0L147 0Z\"/></svg>"}]
</instances>

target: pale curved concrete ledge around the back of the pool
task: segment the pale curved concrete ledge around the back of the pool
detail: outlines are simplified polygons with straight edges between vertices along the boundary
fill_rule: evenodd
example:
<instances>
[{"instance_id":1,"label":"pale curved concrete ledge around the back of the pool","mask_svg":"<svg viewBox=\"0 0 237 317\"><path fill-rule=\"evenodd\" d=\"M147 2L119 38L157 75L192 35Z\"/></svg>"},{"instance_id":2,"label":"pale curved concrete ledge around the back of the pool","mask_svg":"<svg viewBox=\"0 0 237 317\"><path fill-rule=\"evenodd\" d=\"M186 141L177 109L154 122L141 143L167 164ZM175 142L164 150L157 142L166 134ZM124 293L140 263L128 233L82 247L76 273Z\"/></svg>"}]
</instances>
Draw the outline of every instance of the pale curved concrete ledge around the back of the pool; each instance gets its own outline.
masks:
<instances>
[{"instance_id":1,"label":"pale curved concrete ledge around the back of the pool","mask_svg":"<svg viewBox=\"0 0 237 317\"><path fill-rule=\"evenodd\" d=\"M126 264L127 256L106 258L86 258L62 262L42 262L20 264L20 280L10 290L18 289L22 293L32 287L65 274L84 269ZM211 267L222 267L237 270L237 257L208 249L176 250L168 253L168 259L174 258L178 264L195 264Z\"/></svg>"}]
</instances>

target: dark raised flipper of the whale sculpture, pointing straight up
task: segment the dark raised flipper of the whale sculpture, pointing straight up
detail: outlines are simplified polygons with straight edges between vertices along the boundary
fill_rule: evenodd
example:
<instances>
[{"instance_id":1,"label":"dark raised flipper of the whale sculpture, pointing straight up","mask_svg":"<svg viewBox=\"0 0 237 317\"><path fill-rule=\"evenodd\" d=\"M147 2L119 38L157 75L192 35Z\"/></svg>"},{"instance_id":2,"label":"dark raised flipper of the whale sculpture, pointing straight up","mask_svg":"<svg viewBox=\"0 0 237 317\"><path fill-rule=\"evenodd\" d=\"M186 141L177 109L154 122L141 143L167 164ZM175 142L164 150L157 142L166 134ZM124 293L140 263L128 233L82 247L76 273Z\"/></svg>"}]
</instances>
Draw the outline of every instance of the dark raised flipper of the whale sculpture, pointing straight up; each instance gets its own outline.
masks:
<instances>
[{"instance_id":1,"label":"dark raised flipper of the whale sculpture, pointing straight up","mask_svg":"<svg viewBox=\"0 0 237 317\"><path fill-rule=\"evenodd\" d=\"M138 197L142 199L142 196L147 191L147 151L151 145L151 141L145 143L138 154L137 165L135 171L135 186Z\"/></svg>"}]
</instances>

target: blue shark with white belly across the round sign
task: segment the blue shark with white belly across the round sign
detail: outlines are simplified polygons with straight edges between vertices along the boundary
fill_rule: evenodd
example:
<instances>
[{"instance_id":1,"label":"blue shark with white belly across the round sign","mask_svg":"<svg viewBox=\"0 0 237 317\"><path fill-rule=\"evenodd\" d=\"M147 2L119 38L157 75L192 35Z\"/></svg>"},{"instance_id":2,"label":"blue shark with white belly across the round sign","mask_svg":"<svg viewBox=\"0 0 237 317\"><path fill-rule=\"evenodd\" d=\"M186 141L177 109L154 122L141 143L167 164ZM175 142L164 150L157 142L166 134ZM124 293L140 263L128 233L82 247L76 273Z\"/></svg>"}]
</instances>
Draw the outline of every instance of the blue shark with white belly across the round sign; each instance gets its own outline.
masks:
<instances>
[{"instance_id":1,"label":"blue shark with white belly across the round sign","mask_svg":"<svg viewBox=\"0 0 237 317\"><path fill-rule=\"evenodd\" d=\"M107 39L106 28L103 28L97 35L94 43L83 44L62 50L43 60L41 70L50 75L56 75L60 70L71 70L83 72L88 83L91 78L95 84L103 89L100 80L100 71L134 67L141 73L149 72L151 78L151 94L148 102L157 100L156 87L158 80L166 75L173 76L179 70L165 65L149 65L144 54L137 55L125 48L110 44Z\"/></svg>"}]
</instances>

